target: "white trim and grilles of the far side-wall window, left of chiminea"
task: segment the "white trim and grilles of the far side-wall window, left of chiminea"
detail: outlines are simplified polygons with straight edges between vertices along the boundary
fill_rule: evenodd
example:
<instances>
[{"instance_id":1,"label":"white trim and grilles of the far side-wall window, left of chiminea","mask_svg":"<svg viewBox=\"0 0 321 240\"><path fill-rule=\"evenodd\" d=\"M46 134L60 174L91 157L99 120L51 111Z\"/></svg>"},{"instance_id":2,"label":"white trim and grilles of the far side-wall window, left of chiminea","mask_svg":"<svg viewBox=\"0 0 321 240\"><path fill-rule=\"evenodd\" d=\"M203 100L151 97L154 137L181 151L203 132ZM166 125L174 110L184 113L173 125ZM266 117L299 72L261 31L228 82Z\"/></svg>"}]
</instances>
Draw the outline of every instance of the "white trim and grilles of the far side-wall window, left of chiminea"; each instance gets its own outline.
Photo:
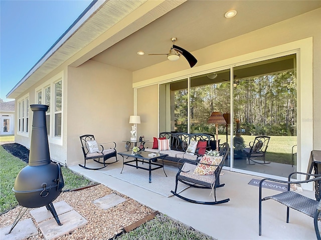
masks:
<instances>
[{"instance_id":1,"label":"white trim and grilles of the far side-wall window, left of chiminea","mask_svg":"<svg viewBox=\"0 0 321 240\"><path fill-rule=\"evenodd\" d=\"M27 137L29 137L29 133L30 133L30 129L31 129L31 127L30 127L30 107L27 105L27 99L28 99L28 102L29 102L29 104L30 104L30 98L29 98L29 94L26 94L26 95L24 95L23 97L21 97L21 98L19 98L18 99L18 101L17 101L17 122L16 122L16 128L17 128L17 134L18 135L21 135L21 136L27 136ZM22 104L22 103L24 103L24 108L23 108L23 106L21 105L21 109L19 109L19 104ZM23 116L23 114L22 114L22 110L23 109L25 109L25 114L24 114L24 116ZM19 112L20 111L20 112ZM27 114L27 111L29 111L28 113L29 114ZM20 117L19 117L20 116ZM25 118L25 120L24 120L24 126L22 126L21 125L21 129L23 128L24 129L24 131L21 131L20 129L19 129L19 118ZM27 126L27 118L29 118L29 120L28 120L28 126ZM22 124L22 122L23 121L21 121L21 124ZM26 132L26 129L27 129L27 127L28 127L28 132Z\"/></svg>"}]
</instances>

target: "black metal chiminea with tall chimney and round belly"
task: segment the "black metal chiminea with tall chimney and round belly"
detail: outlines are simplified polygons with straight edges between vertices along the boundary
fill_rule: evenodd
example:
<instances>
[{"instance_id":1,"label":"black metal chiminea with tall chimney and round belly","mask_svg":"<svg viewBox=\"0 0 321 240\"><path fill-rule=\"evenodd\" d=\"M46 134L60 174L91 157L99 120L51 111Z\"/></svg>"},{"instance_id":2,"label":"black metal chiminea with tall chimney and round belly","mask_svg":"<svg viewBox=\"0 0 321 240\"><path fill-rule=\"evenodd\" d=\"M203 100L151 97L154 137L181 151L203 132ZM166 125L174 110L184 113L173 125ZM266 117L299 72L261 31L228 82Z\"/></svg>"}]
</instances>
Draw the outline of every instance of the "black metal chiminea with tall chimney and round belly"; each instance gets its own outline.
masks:
<instances>
[{"instance_id":1,"label":"black metal chiminea with tall chimney and round belly","mask_svg":"<svg viewBox=\"0 0 321 240\"><path fill-rule=\"evenodd\" d=\"M32 104L34 112L29 165L17 175L13 191L17 201L25 207L46 206L62 225L53 205L64 187L60 165L50 160L46 127L48 105Z\"/></svg>"}]
</instances>

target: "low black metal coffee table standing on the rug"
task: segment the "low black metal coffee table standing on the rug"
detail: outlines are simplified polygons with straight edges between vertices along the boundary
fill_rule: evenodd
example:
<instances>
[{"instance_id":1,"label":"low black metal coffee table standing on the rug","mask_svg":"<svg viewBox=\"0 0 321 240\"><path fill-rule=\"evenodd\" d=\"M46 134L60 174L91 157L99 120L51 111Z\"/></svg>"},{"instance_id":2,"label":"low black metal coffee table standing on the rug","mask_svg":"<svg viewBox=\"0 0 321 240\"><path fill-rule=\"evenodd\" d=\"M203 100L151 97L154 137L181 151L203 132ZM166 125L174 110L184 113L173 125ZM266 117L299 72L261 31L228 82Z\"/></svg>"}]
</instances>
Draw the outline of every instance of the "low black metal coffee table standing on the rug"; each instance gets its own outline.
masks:
<instances>
[{"instance_id":1,"label":"low black metal coffee table standing on the rug","mask_svg":"<svg viewBox=\"0 0 321 240\"><path fill-rule=\"evenodd\" d=\"M148 156L148 154L150 153L154 153L156 154L155 156ZM163 153L155 153L155 152L150 152L150 151L141 151L138 154L134 154L132 151L124 151L124 152L118 152L119 155L122 156L122 168L121 168L121 172L124 169L124 165L128 165L128 166L134 166L137 169L144 169L144 170L148 170L149 171L149 183L151 182L151 171L152 170L156 170L159 168L163 168L165 175L167 176L165 169L164 169L164 157L167 156L168 154L163 154ZM128 157L133 157L133 160L128 160L125 161L125 156ZM126 159L127 159L126 158ZM155 161L157 159L162 159L162 163L156 163ZM138 166L138 162L142 162L144 163L144 160L148 161L148 168L147 167L143 167L143 166ZM136 164L131 164L131 162L136 162ZM147 163L147 162L146 162ZM151 166L155 166L155 167L151 167ZM120 173L121 173L120 172Z\"/></svg>"}]
</instances>

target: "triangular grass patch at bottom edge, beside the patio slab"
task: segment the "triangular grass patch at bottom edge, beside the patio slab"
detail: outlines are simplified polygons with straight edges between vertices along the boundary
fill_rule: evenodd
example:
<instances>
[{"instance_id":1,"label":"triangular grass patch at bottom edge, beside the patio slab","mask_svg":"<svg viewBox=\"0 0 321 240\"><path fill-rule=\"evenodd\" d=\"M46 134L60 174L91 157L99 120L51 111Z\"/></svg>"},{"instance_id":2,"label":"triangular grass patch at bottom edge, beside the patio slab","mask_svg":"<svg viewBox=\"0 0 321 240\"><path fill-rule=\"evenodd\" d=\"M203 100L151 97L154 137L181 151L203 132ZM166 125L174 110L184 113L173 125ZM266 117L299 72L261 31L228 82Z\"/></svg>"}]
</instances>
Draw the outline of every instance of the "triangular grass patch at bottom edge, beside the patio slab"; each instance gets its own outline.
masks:
<instances>
[{"instance_id":1,"label":"triangular grass patch at bottom edge, beside the patio slab","mask_svg":"<svg viewBox=\"0 0 321 240\"><path fill-rule=\"evenodd\" d=\"M180 239L180 240L209 240L212 237L202 234L172 218L158 214L155 218L141 224L136 229L125 233L117 238L117 240L153 240L153 239Z\"/></svg>"}]
</instances>

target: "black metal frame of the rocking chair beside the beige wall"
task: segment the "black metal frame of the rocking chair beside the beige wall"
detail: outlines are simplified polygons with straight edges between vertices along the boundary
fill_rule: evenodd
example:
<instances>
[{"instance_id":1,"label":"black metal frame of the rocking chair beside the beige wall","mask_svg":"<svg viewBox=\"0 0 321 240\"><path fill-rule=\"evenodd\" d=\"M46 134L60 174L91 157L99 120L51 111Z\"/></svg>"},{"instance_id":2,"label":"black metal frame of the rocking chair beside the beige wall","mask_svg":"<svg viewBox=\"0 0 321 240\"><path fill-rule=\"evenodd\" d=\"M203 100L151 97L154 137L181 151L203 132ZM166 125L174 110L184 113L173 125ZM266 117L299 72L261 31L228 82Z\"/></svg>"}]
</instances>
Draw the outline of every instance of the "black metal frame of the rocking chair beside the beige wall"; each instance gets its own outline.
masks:
<instances>
[{"instance_id":1,"label":"black metal frame of the rocking chair beside the beige wall","mask_svg":"<svg viewBox=\"0 0 321 240\"><path fill-rule=\"evenodd\" d=\"M109 142L105 142L105 143L97 143L98 144L98 147L99 147L99 151L97 152L97 154L95 154L94 156L88 156L88 153L90 153L89 149L88 149L88 146L86 144L87 141L92 141L92 140L95 140L95 137L93 134L85 134L85 135L82 135L79 137L80 138L80 141L81 141L81 148L82 148L82 151L83 151L83 154L84 154L84 165L81 165L81 164L78 164L79 166L83 167L83 168L86 168L86 169L91 169L91 170L98 170L98 169L102 169L104 167L107 166L106 164L106 160L111 158L111 157L115 157L116 160L113 161L113 162L108 162L109 163L114 163L116 161L118 161L117 159L117 151L116 151L116 142L114 141L109 141ZM114 149L114 151L110 152L110 153L104 153L104 147L102 144L111 144L113 147L110 147L109 149ZM97 160L98 158L98 160ZM103 161L100 161L100 158L103 158ZM86 166L86 160L89 160L89 159L93 159L94 161L98 162L98 163L101 163L103 164L102 167L97 167L97 168L91 168L91 167L87 167Z\"/></svg>"}]
</instances>

